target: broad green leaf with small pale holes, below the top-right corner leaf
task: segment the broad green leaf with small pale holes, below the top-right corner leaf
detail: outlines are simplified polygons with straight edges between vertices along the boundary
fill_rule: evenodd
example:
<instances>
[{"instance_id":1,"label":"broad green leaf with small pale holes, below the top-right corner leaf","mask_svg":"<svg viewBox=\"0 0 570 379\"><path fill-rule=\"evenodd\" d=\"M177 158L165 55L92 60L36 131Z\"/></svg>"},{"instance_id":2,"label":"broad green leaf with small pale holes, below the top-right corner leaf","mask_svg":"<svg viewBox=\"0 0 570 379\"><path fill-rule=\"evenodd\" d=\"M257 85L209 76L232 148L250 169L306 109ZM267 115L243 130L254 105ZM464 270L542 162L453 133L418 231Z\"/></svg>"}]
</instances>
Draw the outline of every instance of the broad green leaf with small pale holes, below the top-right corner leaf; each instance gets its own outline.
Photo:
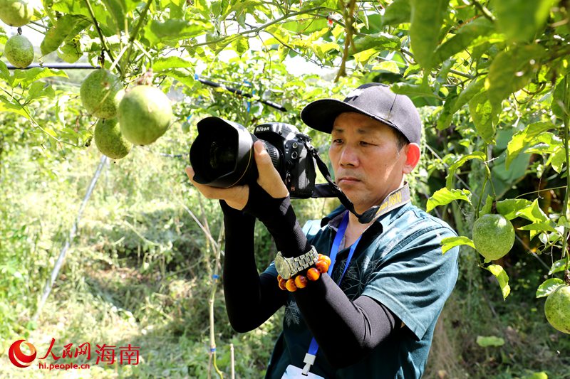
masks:
<instances>
[{"instance_id":1,"label":"broad green leaf with small pale holes, below the top-right corner leaf","mask_svg":"<svg viewBox=\"0 0 570 379\"><path fill-rule=\"evenodd\" d=\"M515 45L497 54L485 80L489 101L497 112L501 110L502 100L527 85L545 53L540 45Z\"/></svg>"}]
</instances>

